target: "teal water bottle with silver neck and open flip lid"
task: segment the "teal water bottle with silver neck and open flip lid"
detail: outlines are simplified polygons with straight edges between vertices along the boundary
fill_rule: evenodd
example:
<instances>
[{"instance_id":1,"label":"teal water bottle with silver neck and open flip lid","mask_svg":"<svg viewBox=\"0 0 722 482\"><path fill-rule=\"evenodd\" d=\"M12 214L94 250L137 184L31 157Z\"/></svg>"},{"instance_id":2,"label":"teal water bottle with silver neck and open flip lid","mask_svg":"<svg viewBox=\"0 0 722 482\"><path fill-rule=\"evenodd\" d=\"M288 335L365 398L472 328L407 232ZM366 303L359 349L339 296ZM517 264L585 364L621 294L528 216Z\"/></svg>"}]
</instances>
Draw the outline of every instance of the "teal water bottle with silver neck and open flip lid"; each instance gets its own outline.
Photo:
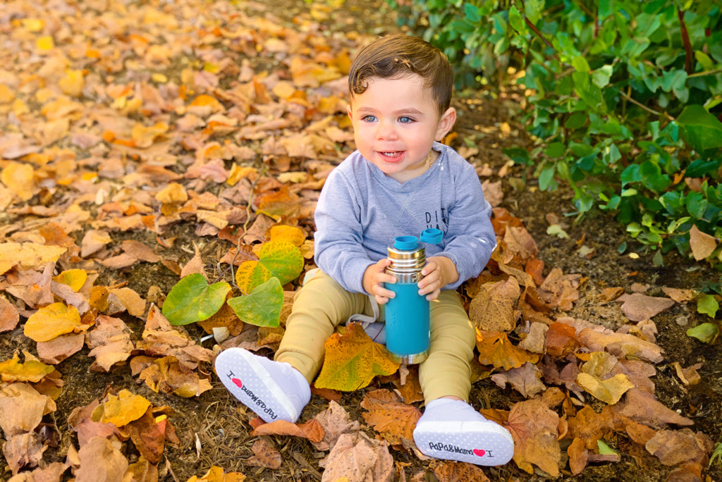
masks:
<instances>
[{"instance_id":1,"label":"teal water bottle with silver neck and open flip lid","mask_svg":"<svg viewBox=\"0 0 722 482\"><path fill-rule=\"evenodd\" d=\"M443 237L439 229L425 229L421 241L438 244ZM386 349L397 363L417 364L429 356L430 307L425 296L419 294L417 283L426 264L425 249L414 236L399 236L388 247L391 264L386 273L396 283L386 289L396 293L385 307Z\"/></svg>"}]
</instances>

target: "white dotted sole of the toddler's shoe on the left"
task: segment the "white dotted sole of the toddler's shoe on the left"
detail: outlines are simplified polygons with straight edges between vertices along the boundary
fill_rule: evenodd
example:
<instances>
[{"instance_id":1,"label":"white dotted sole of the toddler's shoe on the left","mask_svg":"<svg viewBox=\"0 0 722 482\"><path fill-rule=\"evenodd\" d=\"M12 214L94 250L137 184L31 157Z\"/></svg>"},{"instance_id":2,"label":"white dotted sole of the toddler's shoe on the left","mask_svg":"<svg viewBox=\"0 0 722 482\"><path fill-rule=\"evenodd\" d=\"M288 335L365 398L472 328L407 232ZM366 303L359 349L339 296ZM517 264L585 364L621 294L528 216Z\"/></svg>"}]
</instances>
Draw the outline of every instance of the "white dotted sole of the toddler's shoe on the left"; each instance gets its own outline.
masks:
<instances>
[{"instance_id":1,"label":"white dotted sole of the toddler's shoe on the left","mask_svg":"<svg viewBox=\"0 0 722 482\"><path fill-rule=\"evenodd\" d=\"M238 348L222 351L216 373L227 390L266 422L295 422L300 413L256 355Z\"/></svg>"}]
</instances>

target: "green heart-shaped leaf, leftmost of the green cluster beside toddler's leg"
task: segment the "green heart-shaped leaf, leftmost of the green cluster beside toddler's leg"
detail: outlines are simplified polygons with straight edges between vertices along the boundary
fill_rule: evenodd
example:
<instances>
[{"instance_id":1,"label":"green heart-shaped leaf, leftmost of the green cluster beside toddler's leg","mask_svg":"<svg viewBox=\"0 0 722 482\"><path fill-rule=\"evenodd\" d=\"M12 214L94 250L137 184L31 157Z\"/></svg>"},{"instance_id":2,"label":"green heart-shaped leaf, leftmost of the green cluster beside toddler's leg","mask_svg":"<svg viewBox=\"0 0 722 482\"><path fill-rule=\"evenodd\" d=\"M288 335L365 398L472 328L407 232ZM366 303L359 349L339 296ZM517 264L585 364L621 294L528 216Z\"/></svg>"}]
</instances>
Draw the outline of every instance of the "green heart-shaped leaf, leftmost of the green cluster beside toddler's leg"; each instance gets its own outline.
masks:
<instances>
[{"instance_id":1,"label":"green heart-shaped leaf, leftmost of the green cluster beside toddler's leg","mask_svg":"<svg viewBox=\"0 0 722 482\"><path fill-rule=\"evenodd\" d=\"M207 320L223 306L230 284L209 285L200 273L189 274L173 286L163 303L163 315L171 325Z\"/></svg>"}]
</instances>

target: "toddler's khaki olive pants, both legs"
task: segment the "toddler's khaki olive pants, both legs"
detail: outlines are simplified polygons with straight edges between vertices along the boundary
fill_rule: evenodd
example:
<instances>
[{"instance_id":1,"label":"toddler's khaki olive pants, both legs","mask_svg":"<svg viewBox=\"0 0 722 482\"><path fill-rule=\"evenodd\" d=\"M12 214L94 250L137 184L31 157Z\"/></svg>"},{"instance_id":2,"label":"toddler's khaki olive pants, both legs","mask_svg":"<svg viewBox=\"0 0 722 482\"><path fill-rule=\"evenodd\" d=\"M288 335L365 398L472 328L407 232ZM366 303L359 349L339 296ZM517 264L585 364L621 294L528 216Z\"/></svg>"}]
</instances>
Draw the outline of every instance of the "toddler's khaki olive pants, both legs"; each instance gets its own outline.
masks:
<instances>
[{"instance_id":1,"label":"toddler's khaki olive pants, both legs","mask_svg":"<svg viewBox=\"0 0 722 482\"><path fill-rule=\"evenodd\" d=\"M476 333L461 299L454 290L441 292L431 304L429 357L419 364L419 383L426 403L456 395L468 401L471 390L471 362ZM323 343L336 326L352 315L373 316L373 302L367 294L347 292L331 276L318 271L297 292L286 333L276 352L278 362L287 362L308 382L321 369Z\"/></svg>"}]
</instances>

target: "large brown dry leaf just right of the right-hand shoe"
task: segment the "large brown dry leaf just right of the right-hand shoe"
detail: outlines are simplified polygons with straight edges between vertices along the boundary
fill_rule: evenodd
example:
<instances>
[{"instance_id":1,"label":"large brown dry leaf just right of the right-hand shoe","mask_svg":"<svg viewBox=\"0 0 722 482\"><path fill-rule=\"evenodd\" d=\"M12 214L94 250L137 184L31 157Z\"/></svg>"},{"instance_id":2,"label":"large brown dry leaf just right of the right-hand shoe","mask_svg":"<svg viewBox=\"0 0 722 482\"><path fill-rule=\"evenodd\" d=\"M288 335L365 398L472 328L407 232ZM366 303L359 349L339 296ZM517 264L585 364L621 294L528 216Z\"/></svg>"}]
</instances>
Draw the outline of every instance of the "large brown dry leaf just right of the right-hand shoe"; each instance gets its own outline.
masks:
<instances>
[{"instance_id":1,"label":"large brown dry leaf just right of the right-hand shoe","mask_svg":"<svg viewBox=\"0 0 722 482\"><path fill-rule=\"evenodd\" d=\"M552 477L559 476L562 452L557 413L541 400L526 400L514 404L505 426L514 438L514 462L519 468L534 473L534 464Z\"/></svg>"}]
</instances>

